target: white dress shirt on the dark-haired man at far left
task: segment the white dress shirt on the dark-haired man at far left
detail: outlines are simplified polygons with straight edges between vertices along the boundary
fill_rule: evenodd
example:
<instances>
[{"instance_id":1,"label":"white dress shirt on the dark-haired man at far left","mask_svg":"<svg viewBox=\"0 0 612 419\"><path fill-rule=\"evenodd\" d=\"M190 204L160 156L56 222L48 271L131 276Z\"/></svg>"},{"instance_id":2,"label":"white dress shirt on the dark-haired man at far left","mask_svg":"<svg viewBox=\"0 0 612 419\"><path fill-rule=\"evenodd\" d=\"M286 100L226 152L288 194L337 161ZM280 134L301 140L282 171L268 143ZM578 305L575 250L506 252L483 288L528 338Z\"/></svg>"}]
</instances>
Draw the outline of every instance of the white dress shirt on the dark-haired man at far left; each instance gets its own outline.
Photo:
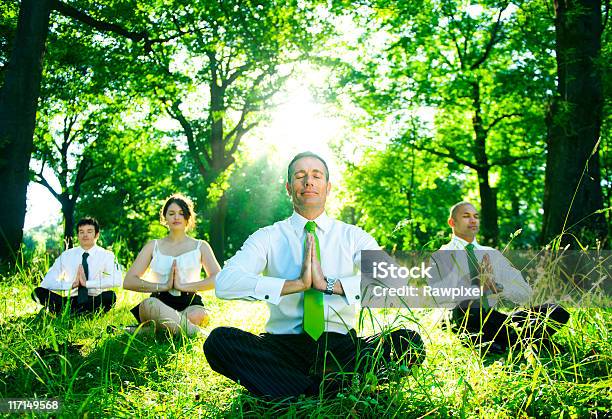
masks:
<instances>
[{"instance_id":1,"label":"white dress shirt on the dark-haired man at far left","mask_svg":"<svg viewBox=\"0 0 612 419\"><path fill-rule=\"evenodd\" d=\"M70 290L71 296L78 295L78 288L72 288L72 283L79 265L83 263L83 253L85 250L80 246L62 252L55 259L40 286L52 291ZM94 296L100 294L103 289L120 287L123 273L113 252L96 245L87 250L87 253L89 253L87 257L89 275L85 284L88 294Z\"/></svg>"}]
</instances>

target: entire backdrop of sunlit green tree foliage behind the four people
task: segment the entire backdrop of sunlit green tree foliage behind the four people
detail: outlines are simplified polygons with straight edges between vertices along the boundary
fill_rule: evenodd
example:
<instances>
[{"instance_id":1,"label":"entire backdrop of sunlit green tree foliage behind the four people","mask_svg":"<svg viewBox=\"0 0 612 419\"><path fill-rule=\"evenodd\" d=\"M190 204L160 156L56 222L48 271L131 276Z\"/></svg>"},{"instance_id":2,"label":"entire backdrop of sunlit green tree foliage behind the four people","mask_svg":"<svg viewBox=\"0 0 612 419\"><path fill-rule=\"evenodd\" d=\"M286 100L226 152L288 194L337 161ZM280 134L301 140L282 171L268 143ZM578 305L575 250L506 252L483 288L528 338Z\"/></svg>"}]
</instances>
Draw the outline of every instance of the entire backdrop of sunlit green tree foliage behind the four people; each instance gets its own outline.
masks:
<instances>
[{"instance_id":1,"label":"entire backdrop of sunlit green tree foliage behind the four people","mask_svg":"<svg viewBox=\"0 0 612 419\"><path fill-rule=\"evenodd\" d=\"M40 173L44 162L60 184L58 194L73 197L79 165L93 162L78 191L76 212L100 218L105 242L125 243L124 257L164 234L157 211L174 191L194 198L200 215L194 234L207 239L217 203L226 195L226 255L257 227L288 214L282 185L248 182L256 173L276 179L276 169L245 161L241 145L255 139L252 128L267 121L277 105L275 93L306 59L331 68L335 83L326 86L329 96L366 111L363 118L352 109L342 116L375 143L365 150L355 145L357 155L364 152L363 161L349 161L344 149L339 151L347 166L341 188L345 221L359 224L389 250L445 241L448 206L478 196L477 176L465 162L482 163L474 141L480 128L486 130L487 178L498 201L500 238L504 242L520 229L512 246L536 243L544 115L555 87L551 5L447 0L69 4L98 23L141 38L52 14L31 168ZM0 11L3 64L18 2L3 2ZM342 34L347 25L338 23L346 17L353 23ZM609 34L606 28L601 64L606 92ZM474 122L477 111L480 125ZM608 114L601 143L606 184L612 182ZM62 162L66 133L72 140ZM510 161L519 156L528 158ZM608 204L609 189L604 188Z\"/></svg>"}]
</instances>

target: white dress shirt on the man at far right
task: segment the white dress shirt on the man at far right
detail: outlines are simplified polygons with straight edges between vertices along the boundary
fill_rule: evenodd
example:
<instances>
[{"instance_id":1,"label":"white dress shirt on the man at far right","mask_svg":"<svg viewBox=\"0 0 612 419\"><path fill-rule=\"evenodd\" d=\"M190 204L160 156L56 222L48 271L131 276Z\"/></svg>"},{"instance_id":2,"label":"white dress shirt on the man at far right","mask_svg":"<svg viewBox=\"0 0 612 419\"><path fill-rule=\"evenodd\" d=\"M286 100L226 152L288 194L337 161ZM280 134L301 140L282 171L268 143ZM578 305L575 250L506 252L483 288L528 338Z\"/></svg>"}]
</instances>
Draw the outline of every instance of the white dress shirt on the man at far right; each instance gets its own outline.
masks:
<instances>
[{"instance_id":1,"label":"white dress shirt on the man at far right","mask_svg":"<svg viewBox=\"0 0 612 419\"><path fill-rule=\"evenodd\" d=\"M432 255L433 264L444 264L445 266L439 270L434 269L435 273L444 272L442 278L433 280L433 287L471 287L471 279L469 277L469 264L467 259L467 251L465 246L469 243L460 237L453 235L451 241L442 247L440 251ZM476 239L472 242L474 245L474 254L478 262L482 262L484 255L489 256L491 267L493 268L493 281L501 285L503 290L498 294L489 294L487 301L489 307L494 307L499 299L512 301L515 304L524 304L531 298L533 291L527 281L523 279L521 272L516 269L508 259L499 251L492 247L482 246L478 244ZM453 308L461 300L439 298L436 300L438 306Z\"/></svg>"}]
</instances>

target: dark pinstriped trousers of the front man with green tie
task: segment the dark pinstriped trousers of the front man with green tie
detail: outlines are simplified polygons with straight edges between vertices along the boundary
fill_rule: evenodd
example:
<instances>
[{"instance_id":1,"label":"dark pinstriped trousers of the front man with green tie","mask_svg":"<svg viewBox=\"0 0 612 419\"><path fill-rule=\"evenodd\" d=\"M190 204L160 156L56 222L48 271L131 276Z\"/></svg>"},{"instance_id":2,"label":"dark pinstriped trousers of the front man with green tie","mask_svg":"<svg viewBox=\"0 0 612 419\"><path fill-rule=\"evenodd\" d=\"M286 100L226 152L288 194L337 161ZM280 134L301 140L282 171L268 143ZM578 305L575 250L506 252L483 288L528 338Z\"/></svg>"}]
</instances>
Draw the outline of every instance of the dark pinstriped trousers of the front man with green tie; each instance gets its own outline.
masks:
<instances>
[{"instance_id":1,"label":"dark pinstriped trousers of the front man with green tie","mask_svg":"<svg viewBox=\"0 0 612 419\"><path fill-rule=\"evenodd\" d=\"M325 332L317 340L298 335L254 335L233 327L214 329L204 342L210 367L243 385L256 396L271 398L335 394L355 373L374 371L390 376L391 366L423 362L418 333L399 329L367 338Z\"/></svg>"}]
</instances>

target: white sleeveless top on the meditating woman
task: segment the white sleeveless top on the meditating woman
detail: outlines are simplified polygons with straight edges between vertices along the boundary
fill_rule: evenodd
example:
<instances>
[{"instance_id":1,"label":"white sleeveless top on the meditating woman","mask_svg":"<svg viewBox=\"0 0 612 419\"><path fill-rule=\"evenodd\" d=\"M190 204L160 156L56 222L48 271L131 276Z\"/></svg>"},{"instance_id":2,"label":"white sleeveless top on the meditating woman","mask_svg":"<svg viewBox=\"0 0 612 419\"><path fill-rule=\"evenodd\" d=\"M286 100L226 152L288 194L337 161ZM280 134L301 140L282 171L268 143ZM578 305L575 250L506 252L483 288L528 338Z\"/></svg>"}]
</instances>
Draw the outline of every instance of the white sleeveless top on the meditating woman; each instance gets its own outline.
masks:
<instances>
[{"instance_id":1,"label":"white sleeveless top on the meditating woman","mask_svg":"<svg viewBox=\"0 0 612 419\"><path fill-rule=\"evenodd\" d=\"M181 282L187 284L200 281L200 273L202 272L202 253L200 246L202 242L198 240L198 246L188 252L178 256L164 255L159 251L157 240L155 240L155 248L153 249L153 259L149 265L149 278L151 282L160 284L168 282L170 273L172 272L172 263L176 260L176 265L179 270ZM174 296L181 295L181 292L176 289L168 291Z\"/></svg>"}]
</instances>

